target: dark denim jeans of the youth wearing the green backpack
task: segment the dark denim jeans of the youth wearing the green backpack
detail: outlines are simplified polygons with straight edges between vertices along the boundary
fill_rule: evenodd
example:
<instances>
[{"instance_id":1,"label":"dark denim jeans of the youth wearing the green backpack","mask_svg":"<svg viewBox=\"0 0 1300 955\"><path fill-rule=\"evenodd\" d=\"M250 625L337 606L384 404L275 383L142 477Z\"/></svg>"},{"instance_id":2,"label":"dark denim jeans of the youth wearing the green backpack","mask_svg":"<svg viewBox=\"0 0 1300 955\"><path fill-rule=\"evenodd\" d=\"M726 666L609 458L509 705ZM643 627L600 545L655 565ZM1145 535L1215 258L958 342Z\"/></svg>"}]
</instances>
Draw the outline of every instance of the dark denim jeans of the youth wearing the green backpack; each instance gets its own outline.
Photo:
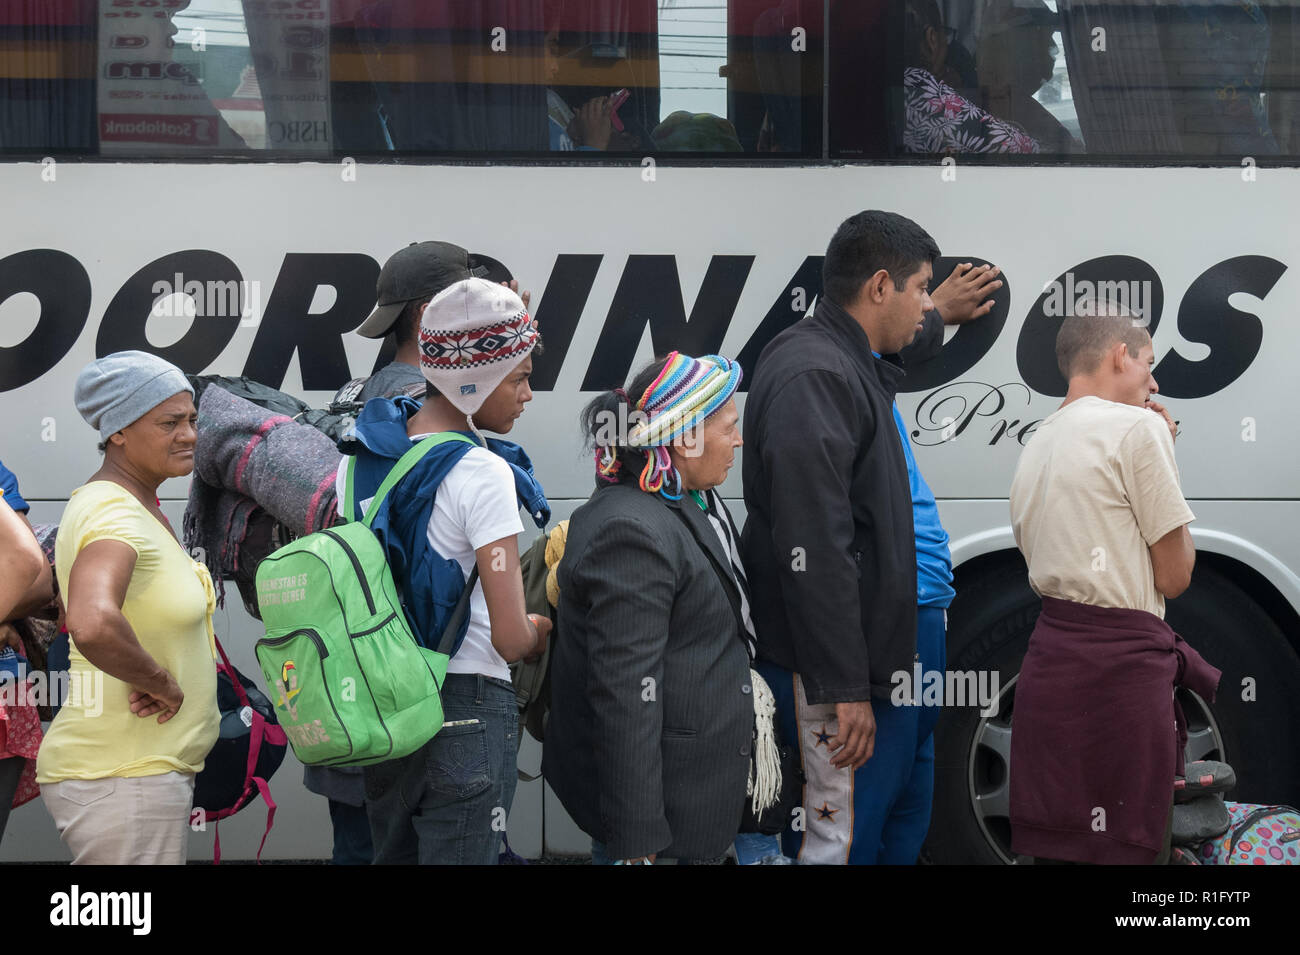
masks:
<instances>
[{"instance_id":1,"label":"dark denim jeans of the youth wearing the green backpack","mask_svg":"<svg viewBox=\"0 0 1300 955\"><path fill-rule=\"evenodd\" d=\"M448 673L442 716L438 735L410 756L365 767L376 865L497 864L519 778L515 690Z\"/></svg>"}]
</instances>

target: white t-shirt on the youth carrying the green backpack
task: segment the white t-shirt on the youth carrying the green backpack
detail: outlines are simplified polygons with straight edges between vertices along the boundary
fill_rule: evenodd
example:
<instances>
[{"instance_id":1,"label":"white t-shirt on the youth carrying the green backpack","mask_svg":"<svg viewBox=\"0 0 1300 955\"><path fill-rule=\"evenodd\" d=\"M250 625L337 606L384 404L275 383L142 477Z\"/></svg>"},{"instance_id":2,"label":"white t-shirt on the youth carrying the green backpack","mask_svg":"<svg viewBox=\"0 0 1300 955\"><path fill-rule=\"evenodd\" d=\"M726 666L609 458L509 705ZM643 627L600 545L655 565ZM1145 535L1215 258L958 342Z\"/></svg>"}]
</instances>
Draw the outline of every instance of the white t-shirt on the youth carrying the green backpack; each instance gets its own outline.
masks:
<instances>
[{"instance_id":1,"label":"white t-shirt on the youth carrying the green backpack","mask_svg":"<svg viewBox=\"0 0 1300 955\"><path fill-rule=\"evenodd\" d=\"M428 437L417 434L411 442ZM343 500L346 473L346 468L339 466L335 479L339 502ZM367 503L361 502L363 509ZM429 516L429 544L443 557L458 561L465 579L469 579L476 550L523 533L515 474L510 465L486 448L469 448L438 485ZM482 673L510 680L510 667L491 644L488 600L481 583L474 585L469 596L469 630L447 664L447 673Z\"/></svg>"}]
</instances>

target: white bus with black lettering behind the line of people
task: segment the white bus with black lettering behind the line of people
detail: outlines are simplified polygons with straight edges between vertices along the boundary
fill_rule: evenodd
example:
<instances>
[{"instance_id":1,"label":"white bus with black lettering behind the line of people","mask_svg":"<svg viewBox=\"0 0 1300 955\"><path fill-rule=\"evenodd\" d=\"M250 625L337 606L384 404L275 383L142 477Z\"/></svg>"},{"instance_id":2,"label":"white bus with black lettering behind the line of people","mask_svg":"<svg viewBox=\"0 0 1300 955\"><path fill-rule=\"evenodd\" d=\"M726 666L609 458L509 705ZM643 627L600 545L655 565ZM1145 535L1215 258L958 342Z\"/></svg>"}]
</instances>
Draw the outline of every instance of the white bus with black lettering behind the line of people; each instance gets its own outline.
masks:
<instances>
[{"instance_id":1,"label":"white bus with black lettering behind the line of people","mask_svg":"<svg viewBox=\"0 0 1300 955\"><path fill-rule=\"evenodd\" d=\"M952 537L948 667L1001 691L997 715L940 720L924 858L1015 861L1037 602L1006 495L1087 283L1149 318L1180 427L1197 564L1167 617L1223 670L1213 703L1184 700L1188 754L1230 761L1234 798L1296 804L1297 157L1291 0L0 3L0 460L57 522L99 461L73 381L122 348L325 404L387 360L352 334L380 264L438 238L532 291L546 352L512 438L560 520L594 487L593 391L671 348L753 373L811 308L836 225L888 208L937 239L936 285L959 261L1006 279L898 398ZM738 466L724 492L742 512ZM164 485L173 522L186 494ZM229 592L218 635L256 676ZM328 858L291 754L272 790L264 858ZM256 806L226 858L256 852ZM525 856L589 851L541 781L508 832ZM191 859L211 846L194 833ZM0 861L66 858L39 800L14 812Z\"/></svg>"}]
</instances>

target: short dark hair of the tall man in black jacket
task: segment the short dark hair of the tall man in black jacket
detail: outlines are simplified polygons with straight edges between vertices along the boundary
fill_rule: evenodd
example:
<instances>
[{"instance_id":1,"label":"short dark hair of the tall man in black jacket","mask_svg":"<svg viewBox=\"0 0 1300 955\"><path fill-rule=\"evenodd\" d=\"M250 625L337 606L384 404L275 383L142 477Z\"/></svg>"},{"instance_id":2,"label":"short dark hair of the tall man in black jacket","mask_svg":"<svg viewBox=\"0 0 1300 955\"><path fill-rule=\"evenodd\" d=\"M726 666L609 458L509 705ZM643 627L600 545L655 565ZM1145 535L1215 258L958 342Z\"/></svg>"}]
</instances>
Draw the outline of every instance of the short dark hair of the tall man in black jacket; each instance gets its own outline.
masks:
<instances>
[{"instance_id":1,"label":"short dark hair of the tall man in black jacket","mask_svg":"<svg viewBox=\"0 0 1300 955\"><path fill-rule=\"evenodd\" d=\"M859 212L831 236L822 262L822 294L837 305L849 305L881 269L902 291L923 264L937 257L939 244L910 218L879 209Z\"/></svg>"}]
</instances>

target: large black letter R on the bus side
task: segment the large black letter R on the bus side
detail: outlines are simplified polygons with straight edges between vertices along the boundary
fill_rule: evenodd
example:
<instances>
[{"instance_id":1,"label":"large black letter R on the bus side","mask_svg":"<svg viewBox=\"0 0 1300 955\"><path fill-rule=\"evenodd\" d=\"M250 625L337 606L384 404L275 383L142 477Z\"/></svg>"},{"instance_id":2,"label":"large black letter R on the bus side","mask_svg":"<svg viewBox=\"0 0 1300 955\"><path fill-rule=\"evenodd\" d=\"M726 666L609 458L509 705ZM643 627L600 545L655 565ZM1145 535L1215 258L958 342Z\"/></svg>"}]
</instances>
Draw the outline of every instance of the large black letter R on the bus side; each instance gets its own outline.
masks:
<instances>
[{"instance_id":1,"label":"large black letter R on the bus side","mask_svg":"<svg viewBox=\"0 0 1300 955\"><path fill-rule=\"evenodd\" d=\"M374 308L378 277L380 264L359 252L286 253L248 352L244 376L278 388L296 350L303 390L335 391L352 377L343 335ZM308 309L320 286L334 288L334 304L312 314Z\"/></svg>"}]
</instances>

